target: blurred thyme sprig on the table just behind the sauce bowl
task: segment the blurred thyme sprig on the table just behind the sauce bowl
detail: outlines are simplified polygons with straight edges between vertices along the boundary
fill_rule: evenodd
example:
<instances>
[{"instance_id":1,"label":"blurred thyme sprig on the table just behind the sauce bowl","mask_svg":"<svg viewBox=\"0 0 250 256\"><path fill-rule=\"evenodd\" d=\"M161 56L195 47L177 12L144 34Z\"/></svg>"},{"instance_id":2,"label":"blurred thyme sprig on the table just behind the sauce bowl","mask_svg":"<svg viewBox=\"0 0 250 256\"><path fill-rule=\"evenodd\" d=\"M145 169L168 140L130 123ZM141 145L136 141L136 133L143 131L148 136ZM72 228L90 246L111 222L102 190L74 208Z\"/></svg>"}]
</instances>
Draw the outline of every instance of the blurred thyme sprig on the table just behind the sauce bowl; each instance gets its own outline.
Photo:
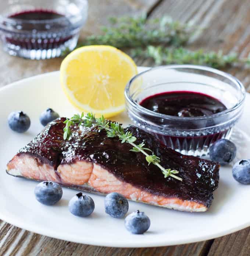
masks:
<instances>
[{"instance_id":1,"label":"blurred thyme sprig on the table just behind the sauce bowl","mask_svg":"<svg viewBox=\"0 0 250 256\"><path fill-rule=\"evenodd\" d=\"M182 47L148 46L131 51L132 57L152 58L157 65L161 64L194 64L213 68L224 68L231 65L249 65L249 58L238 58L236 53L223 54L222 51L205 52L203 49L191 51Z\"/></svg>"}]
</instances>

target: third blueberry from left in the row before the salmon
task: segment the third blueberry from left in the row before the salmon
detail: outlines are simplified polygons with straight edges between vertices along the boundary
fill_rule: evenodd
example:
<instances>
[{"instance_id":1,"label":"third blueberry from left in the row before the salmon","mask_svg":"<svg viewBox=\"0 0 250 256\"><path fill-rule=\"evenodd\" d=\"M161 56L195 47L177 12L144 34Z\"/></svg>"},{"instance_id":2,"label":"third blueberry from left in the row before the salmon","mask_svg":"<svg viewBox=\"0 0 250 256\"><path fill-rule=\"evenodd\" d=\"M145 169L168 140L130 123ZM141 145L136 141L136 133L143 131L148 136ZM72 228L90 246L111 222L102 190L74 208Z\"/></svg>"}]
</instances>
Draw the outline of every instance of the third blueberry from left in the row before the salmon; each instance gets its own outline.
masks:
<instances>
[{"instance_id":1,"label":"third blueberry from left in the row before the salmon","mask_svg":"<svg viewBox=\"0 0 250 256\"><path fill-rule=\"evenodd\" d=\"M104 206L106 213L114 218L123 218L128 212L128 200L116 192L105 197Z\"/></svg>"}]
</instances>

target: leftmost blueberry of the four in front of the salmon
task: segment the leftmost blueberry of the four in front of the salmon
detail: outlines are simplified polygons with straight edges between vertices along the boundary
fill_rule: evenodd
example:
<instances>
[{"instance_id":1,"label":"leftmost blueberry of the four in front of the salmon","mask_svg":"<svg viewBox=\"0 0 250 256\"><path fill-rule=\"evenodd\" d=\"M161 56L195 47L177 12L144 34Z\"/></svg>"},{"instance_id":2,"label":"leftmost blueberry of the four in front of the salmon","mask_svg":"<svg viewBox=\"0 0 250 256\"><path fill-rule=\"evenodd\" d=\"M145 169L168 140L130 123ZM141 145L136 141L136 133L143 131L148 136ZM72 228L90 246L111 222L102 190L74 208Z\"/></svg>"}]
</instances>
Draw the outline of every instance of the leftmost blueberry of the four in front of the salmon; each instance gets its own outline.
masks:
<instances>
[{"instance_id":1,"label":"leftmost blueberry of the four in front of the salmon","mask_svg":"<svg viewBox=\"0 0 250 256\"><path fill-rule=\"evenodd\" d=\"M43 205L54 205L62 198L63 190L56 182L43 181L36 185L35 196Z\"/></svg>"}]
</instances>

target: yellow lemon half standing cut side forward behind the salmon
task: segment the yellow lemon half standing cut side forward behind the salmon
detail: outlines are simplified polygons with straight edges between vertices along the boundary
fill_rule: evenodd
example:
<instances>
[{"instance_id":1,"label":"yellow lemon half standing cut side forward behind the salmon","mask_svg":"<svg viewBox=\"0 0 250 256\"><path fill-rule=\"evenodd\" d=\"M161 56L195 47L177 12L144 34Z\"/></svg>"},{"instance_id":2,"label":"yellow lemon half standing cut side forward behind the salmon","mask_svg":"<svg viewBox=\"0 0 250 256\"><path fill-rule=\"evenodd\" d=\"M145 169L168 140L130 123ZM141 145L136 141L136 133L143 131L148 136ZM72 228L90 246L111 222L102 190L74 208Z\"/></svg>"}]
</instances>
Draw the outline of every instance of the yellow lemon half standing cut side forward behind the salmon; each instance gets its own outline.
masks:
<instances>
[{"instance_id":1,"label":"yellow lemon half standing cut side forward behind the salmon","mask_svg":"<svg viewBox=\"0 0 250 256\"><path fill-rule=\"evenodd\" d=\"M124 89L136 74L131 57L105 45L72 51L60 68L61 86L69 101L81 111L106 118L124 111Z\"/></svg>"}]
</instances>

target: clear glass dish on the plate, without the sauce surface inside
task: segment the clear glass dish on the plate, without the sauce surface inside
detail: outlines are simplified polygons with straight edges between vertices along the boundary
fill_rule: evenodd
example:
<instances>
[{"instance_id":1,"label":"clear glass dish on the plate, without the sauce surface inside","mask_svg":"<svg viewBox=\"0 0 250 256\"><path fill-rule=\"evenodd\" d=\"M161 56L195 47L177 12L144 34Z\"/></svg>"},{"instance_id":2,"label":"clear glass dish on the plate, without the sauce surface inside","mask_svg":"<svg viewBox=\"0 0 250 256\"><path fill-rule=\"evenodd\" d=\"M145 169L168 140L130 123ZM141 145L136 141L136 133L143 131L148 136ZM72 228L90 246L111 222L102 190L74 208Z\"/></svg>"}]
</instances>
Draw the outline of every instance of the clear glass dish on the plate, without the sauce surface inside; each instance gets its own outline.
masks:
<instances>
[{"instance_id":1,"label":"clear glass dish on the plate, without the sauce surface inside","mask_svg":"<svg viewBox=\"0 0 250 256\"><path fill-rule=\"evenodd\" d=\"M176 91L212 96L227 109L202 117L176 117L140 105L149 96ZM230 138L243 111L245 89L238 79L214 68L168 65L151 68L133 77L125 88L125 99L128 115L135 125L182 154L204 156L213 142Z\"/></svg>"}]
</instances>

